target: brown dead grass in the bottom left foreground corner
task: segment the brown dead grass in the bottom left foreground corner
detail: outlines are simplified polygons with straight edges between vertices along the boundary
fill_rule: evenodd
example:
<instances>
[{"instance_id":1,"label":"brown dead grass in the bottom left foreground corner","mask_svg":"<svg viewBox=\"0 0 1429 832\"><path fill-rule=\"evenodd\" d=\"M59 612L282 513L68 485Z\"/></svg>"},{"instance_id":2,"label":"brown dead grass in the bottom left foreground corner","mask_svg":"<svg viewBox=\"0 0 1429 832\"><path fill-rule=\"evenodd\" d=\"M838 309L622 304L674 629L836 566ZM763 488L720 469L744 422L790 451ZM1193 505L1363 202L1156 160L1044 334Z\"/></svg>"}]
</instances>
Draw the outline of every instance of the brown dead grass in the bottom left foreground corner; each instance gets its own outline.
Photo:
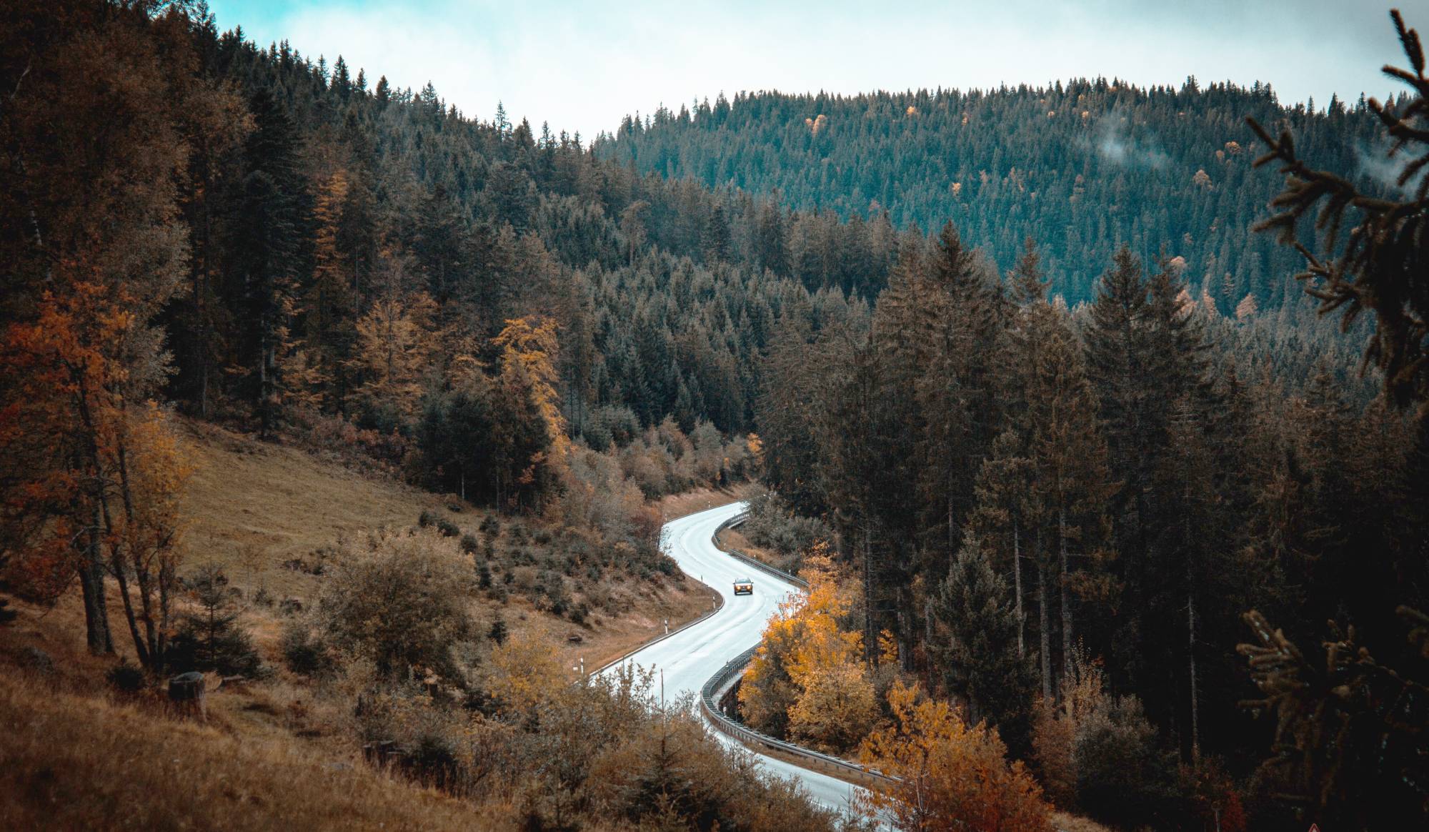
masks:
<instances>
[{"instance_id":1,"label":"brown dead grass in the bottom left foreground corner","mask_svg":"<svg viewBox=\"0 0 1429 832\"><path fill-rule=\"evenodd\" d=\"M0 675L3 829L490 829L356 759Z\"/></svg>"}]
</instances>

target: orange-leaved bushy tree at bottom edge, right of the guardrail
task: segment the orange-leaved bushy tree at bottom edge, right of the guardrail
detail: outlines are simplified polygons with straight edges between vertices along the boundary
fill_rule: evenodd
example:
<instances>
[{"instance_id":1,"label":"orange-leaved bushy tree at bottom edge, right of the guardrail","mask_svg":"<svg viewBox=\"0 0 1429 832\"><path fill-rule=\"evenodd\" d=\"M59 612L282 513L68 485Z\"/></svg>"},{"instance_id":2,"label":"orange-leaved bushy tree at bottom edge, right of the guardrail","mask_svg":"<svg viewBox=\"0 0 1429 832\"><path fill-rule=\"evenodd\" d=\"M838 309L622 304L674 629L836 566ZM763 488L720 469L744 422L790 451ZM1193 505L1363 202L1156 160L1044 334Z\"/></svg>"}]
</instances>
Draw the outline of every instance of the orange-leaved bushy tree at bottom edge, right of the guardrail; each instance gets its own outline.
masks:
<instances>
[{"instance_id":1,"label":"orange-leaved bushy tree at bottom edge, right of the guardrail","mask_svg":"<svg viewBox=\"0 0 1429 832\"><path fill-rule=\"evenodd\" d=\"M889 690L893 725L865 741L860 761L897 778L866 792L857 805L869 818L910 832L1050 829L1042 791L985 723L969 726L947 703L920 696L916 686Z\"/></svg>"}]
</instances>

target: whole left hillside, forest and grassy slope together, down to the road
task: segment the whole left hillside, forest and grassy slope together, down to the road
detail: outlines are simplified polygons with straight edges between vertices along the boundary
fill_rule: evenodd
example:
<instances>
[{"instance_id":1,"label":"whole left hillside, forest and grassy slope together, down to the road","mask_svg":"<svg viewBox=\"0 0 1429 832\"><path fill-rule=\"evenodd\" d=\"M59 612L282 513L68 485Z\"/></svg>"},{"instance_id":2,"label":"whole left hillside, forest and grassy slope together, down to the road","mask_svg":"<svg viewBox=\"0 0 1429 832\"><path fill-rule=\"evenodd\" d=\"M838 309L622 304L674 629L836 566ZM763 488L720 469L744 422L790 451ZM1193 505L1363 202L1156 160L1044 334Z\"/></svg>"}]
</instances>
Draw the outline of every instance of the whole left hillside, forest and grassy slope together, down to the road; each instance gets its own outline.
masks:
<instances>
[{"instance_id":1,"label":"whole left hillside, forest and grassy slope together, down to the road","mask_svg":"<svg viewBox=\"0 0 1429 832\"><path fill-rule=\"evenodd\" d=\"M572 670L709 609L652 499L757 467L762 349L809 299L746 267L773 206L260 49L201 3L6 4L0 90L0 816L360 826L439 788L510 829L832 826L649 672ZM259 462L313 456L380 485ZM442 496L373 509L392 479ZM170 729L189 672L227 679L243 776ZM354 762L413 786L312 776Z\"/></svg>"}]
</instances>

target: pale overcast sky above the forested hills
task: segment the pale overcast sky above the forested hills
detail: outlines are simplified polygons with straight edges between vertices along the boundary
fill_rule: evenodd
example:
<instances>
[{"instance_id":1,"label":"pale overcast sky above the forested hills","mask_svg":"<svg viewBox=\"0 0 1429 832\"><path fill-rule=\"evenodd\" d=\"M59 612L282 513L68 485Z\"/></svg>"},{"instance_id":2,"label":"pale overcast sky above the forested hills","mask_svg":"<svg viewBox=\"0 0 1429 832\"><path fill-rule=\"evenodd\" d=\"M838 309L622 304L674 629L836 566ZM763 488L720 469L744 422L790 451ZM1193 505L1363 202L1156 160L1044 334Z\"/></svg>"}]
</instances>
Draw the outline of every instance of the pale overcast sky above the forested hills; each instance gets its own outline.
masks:
<instances>
[{"instance_id":1,"label":"pale overcast sky above the forested hills","mask_svg":"<svg viewBox=\"0 0 1429 832\"><path fill-rule=\"evenodd\" d=\"M626 113L739 90L1269 81L1282 101L1383 97L1400 60L1376 0L945 0L606 3L554 0L209 0L220 29L342 54L372 83L437 93L489 120L550 122L590 139ZM1429 0L1400 0L1429 39Z\"/></svg>"}]
</instances>

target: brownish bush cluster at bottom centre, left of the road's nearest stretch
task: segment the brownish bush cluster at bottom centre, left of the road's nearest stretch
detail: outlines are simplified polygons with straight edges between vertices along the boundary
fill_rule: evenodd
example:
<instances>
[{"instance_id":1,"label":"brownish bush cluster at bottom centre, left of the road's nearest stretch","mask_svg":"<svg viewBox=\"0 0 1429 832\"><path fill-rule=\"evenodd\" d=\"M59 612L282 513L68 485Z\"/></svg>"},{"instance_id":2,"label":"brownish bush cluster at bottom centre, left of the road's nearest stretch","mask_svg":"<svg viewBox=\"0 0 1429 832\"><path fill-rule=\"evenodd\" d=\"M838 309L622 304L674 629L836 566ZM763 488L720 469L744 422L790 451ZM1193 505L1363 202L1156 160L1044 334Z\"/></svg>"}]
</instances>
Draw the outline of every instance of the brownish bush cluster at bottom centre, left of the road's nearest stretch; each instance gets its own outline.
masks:
<instances>
[{"instance_id":1,"label":"brownish bush cluster at bottom centre, left of the road's nearest stretch","mask_svg":"<svg viewBox=\"0 0 1429 832\"><path fill-rule=\"evenodd\" d=\"M460 703L416 685L369 690L359 733L417 782L519 806L527 829L835 829L795 786L714 742L689 702L662 710L649 673L562 678L547 650L507 645Z\"/></svg>"}]
</instances>

